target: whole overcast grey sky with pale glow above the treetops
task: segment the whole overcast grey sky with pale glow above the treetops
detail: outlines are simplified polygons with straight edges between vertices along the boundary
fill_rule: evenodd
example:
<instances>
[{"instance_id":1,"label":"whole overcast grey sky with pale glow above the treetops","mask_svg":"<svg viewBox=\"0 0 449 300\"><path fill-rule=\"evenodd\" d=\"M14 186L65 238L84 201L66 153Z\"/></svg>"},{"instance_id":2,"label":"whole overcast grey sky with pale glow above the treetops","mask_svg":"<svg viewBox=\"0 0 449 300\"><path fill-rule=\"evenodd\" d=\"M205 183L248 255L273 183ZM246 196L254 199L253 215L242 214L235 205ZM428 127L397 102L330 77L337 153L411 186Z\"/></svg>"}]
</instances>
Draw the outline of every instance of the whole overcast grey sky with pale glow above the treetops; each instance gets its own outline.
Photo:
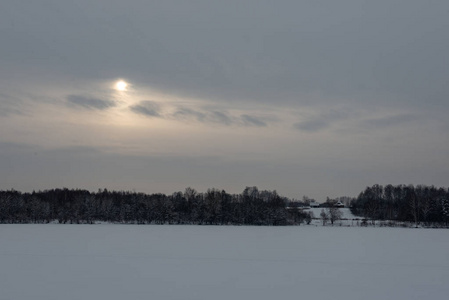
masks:
<instances>
[{"instance_id":1,"label":"whole overcast grey sky with pale glow above the treetops","mask_svg":"<svg viewBox=\"0 0 449 300\"><path fill-rule=\"evenodd\" d=\"M448 186L447 0L2 0L0 40L0 189Z\"/></svg>"}]
</instances>

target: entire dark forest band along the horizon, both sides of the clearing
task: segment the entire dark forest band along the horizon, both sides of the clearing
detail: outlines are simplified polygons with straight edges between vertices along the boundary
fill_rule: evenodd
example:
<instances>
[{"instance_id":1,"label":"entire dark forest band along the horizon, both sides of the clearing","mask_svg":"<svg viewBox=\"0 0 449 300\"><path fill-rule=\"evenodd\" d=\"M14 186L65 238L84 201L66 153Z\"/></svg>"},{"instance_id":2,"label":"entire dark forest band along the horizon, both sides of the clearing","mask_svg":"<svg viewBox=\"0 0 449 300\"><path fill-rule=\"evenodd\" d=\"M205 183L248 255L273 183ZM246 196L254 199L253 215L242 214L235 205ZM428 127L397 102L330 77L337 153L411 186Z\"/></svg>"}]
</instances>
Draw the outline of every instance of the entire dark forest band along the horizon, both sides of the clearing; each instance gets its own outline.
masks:
<instances>
[{"instance_id":1,"label":"entire dark forest band along the horizon, both sides of the clearing","mask_svg":"<svg viewBox=\"0 0 449 300\"><path fill-rule=\"evenodd\" d=\"M130 191L51 189L21 193L0 191L0 223L93 224L97 221L130 224L300 225L311 219L334 224L341 214L335 207L344 199L351 212L375 224L376 220L409 222L421 226L447 226L449 189L425 185L373 185L357 198L327 198L322 213L306 207L312 199L289 199L276 191L246 187L240 194L193 188L171 195Z\"/></svg>"}]
</instances>

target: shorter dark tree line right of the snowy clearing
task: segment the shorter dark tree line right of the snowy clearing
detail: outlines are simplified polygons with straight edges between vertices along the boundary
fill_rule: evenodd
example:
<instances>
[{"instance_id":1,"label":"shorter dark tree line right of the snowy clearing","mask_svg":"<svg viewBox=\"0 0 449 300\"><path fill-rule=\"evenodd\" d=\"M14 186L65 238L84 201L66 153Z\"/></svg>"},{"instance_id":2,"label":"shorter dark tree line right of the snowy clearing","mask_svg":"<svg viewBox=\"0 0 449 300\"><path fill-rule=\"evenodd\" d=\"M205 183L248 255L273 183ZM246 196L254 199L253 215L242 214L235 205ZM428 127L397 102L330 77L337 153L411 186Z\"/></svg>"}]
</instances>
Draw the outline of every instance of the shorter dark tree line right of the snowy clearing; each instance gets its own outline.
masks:
<instances>
[{"instance_id":1,"label":"shorter dark tree line right of the snowy clearing","mask_svg":"<svg viewBox=\"0 0 449 300\"><path fill-rule=\"evenodd\" d=\"M426 185L373 185L351 202L356 216L369 220L413 222L416 225L449 222L449 189Z\"/></svg>"}]
</instances>

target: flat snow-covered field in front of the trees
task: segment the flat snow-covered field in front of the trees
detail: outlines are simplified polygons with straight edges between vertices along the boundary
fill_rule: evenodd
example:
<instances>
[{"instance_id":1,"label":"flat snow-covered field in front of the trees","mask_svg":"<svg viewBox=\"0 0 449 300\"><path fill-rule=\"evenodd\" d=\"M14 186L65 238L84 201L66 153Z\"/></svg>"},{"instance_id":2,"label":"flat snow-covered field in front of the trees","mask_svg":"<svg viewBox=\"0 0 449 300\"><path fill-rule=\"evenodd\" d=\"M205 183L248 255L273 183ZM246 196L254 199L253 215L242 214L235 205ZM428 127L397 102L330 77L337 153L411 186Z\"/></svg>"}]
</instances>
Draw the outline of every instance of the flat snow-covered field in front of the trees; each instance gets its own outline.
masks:
<instances>
[{"instance_id":1,"label":"flat snow-covered field in front of the trees","mask_svg":"<svg viewBox=\"0 0 449 300\"><path fill-rule=\"evenodd\" d=\"M0 225L0 299L444 299L448 249L443 229Z\"/></svg>"}]
</instances>

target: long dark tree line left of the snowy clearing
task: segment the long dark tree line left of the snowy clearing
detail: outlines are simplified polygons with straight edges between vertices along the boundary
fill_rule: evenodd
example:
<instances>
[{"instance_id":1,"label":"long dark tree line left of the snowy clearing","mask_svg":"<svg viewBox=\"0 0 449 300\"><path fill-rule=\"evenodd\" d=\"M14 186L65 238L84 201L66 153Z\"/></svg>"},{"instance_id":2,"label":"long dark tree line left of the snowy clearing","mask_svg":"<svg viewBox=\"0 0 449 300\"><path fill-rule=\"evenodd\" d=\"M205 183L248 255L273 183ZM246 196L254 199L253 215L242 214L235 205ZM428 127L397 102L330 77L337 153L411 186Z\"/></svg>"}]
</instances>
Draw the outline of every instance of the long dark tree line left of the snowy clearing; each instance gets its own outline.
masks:
<instances>
[{"instance_id":1,"label":"long dark tree line left of the snowy clearing","mask_svg":"<svg viewBox=\"0 0 449 300\"><path fill-rule=\"evenodd\" d=\"M0 223L294 225L307 214L288 209L276 191L247 187L241 194L193 188L171 195L52 189L33 193L0 191Z\"/></svg>"}]
</instances>

